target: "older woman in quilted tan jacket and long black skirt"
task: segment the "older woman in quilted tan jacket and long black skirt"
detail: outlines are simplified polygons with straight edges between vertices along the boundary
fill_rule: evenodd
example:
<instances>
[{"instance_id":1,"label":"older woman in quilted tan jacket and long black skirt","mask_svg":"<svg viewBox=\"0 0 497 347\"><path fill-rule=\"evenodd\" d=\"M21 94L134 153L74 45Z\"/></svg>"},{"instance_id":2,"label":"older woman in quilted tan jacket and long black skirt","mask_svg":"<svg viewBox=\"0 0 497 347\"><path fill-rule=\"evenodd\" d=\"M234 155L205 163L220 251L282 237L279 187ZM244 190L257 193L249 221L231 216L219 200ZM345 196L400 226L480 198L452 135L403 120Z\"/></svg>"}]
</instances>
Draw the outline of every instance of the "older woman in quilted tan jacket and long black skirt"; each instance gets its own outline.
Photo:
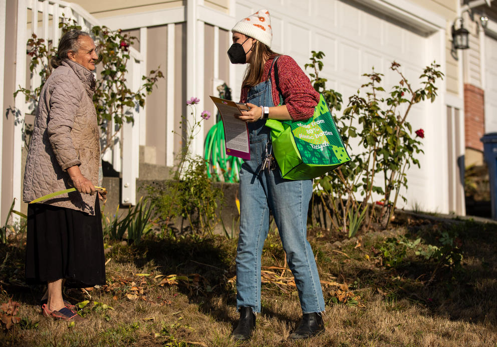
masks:
<instances>
[{"instance_id":1,"label":"older woman in quilted tan jacket and long black skirt","mask_svg":"<svg viewBox=\"0 0 497 347\"><path fill-rule=\"evenodd\" d=\"M100 137L93 105L95 44L71 30L60 42L42 88L24 176L24 201L67 189L77 191L30 204L26 281L47 283L43 314L84 320L62 298L67 286L105 284L99 199ZM46 303L45 303L46 302Z\"/></svg>"}]
</instances>

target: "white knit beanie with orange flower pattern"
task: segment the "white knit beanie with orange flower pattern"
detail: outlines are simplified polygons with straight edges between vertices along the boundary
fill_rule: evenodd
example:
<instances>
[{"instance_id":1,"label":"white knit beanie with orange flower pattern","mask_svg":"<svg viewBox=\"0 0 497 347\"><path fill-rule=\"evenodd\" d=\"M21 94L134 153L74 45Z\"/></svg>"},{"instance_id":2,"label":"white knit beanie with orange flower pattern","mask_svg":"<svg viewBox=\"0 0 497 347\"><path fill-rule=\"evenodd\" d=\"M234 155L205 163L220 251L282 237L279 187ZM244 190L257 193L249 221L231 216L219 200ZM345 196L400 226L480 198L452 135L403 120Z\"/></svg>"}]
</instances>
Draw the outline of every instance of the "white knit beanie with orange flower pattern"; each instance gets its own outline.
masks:
<instances>
[{"instance_id":1,"label":"white knit beanie with orange flower pattern","mask_svg":"<svg viewBox=\"0 0 497 347\"><path fill-rule=\"evenodd\" d=\"M259 10L252 16L242 19L236 23L231 32L250 36L271 48L273 29L271 28L269 11Z\"/></svg>"}]
</instances>

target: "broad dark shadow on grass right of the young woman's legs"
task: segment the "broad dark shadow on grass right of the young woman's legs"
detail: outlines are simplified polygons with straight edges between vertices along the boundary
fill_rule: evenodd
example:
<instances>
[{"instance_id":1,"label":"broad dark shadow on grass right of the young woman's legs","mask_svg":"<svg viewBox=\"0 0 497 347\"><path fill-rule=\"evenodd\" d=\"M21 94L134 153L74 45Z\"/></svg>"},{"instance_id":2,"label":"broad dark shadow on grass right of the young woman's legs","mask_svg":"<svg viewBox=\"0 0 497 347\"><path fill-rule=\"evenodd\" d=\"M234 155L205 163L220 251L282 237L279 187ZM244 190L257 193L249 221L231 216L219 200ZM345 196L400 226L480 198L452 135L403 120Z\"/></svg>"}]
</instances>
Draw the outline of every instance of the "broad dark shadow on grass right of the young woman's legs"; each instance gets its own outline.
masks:
<instances>
[{"instance_id":1,"label":"broad dark shadow on grass right of the young woman's legs","mask_svg":"<svg viewBox=\"0 0 497 347\"><path fill-rule=\"evenodd\" d=\"M336 262L321 264L321 269L343 276L358 291L382 294L394 306L407 299L433 316L497 323L497 224L412 218L395 232L390 240L383 235L365 235L361 248L349 245L342 249L352 259L334 256ZM462 254L460 265L416 254L428 245L440 247L450 235L454 252ZM412 245L416 239L420 245L407 247L402 255L403 244L396 242ZM392 259L397 261L386 264Z\"/></svg>"}]
</instances>

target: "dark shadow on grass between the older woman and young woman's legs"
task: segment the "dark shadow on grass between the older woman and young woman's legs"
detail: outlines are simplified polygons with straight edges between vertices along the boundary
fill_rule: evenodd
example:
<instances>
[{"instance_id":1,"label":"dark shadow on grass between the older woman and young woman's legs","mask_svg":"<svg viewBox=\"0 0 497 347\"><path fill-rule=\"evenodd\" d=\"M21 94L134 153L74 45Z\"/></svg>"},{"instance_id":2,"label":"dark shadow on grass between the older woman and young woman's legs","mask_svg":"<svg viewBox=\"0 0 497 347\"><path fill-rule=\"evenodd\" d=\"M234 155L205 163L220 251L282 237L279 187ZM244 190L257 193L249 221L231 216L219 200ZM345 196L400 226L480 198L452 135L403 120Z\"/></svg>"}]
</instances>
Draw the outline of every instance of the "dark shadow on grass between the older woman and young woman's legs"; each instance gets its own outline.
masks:
<instances>
[{"instance_id":1,"label":"dark shadow on grass between the older woman and young woman's legs","mask_svg":"<svg viewBox=\"0 0 497 347\"><path fill-rule=\"evenodd\" d=\"M185 236L144 240L128 249L134 253L131 258L138 268L152 263L164 276L188 276L190 282L180 282L178 291L187 295L191 303L198 304L202 313L233 323L229 318L227 305L236 304L236 292L228 282L235 275L236 240L224 236ZM130 257L121 256L118 261L129 260ZM213 305L212 301L219 297L227 305Z\"/></svg>"}]
</instances>

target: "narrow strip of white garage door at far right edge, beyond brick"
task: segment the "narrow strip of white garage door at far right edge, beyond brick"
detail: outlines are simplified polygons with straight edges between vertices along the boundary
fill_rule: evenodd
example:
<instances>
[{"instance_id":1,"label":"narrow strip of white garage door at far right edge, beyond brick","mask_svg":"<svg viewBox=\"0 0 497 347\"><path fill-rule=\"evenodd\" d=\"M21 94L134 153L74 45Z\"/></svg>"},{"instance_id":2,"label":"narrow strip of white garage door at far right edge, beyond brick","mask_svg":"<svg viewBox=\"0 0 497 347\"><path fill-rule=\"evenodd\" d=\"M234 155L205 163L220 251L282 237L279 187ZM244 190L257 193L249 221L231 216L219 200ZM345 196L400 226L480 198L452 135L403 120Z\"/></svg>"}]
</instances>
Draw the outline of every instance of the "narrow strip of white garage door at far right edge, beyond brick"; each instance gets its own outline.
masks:
<instances>
[{"instance_id":1,"label":"narrow strip of white garage door at far right edge, beyond brick","mask_svg":"<svg viewBox=\"0 0 497 347\"><path fill-rule=\"evenodd\" d=\"M485 133L497 132L497 40L485 36Z\"/></svg>"}]
</instances>

